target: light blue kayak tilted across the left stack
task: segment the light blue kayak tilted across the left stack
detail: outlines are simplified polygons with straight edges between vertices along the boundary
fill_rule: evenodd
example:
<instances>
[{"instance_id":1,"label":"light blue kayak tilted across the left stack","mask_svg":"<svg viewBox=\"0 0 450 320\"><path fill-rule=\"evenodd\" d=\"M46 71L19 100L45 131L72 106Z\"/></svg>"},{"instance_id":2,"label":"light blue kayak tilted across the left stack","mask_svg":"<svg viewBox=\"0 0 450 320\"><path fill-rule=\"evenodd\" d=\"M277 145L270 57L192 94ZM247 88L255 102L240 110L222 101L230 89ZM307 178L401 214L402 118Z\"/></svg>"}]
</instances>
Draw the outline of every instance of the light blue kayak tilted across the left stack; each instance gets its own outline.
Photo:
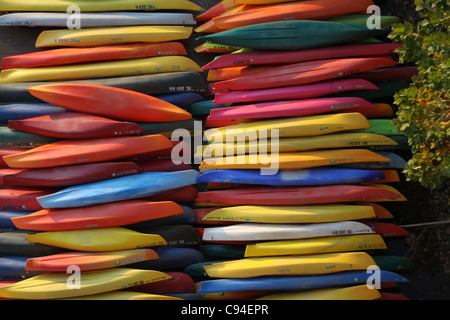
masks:
<instances>
[{"instance_id":1,"label":"light blue kayak tilted across the left stack","mask_svg":"<svg viewBox=\"0 0 450 320\"><path fill-rule=\"evenodd\" d=\"M149 197L195 184L199 172L144 172L78 186L38 197L43 208L73 208Z\"/></svg>"}]
</instances>

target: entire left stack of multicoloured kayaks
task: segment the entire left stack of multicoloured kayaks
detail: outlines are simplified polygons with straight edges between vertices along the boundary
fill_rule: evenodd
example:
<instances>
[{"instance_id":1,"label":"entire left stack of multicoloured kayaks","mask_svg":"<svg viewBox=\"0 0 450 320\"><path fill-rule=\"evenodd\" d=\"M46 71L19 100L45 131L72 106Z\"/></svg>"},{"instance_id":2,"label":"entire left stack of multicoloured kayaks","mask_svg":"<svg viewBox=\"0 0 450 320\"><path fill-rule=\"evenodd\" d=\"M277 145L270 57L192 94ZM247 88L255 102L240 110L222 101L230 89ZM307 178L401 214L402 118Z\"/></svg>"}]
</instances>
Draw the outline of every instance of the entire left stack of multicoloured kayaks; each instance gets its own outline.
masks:
<instances>
[{"instance_id":1,"label":"entire left stack of multicoloured kayaks","mask_svg":"<svg viewBox=\"0 0 450 320\"><path fill-rule=\"evenodd\" d=\"M199 173L172 161L170 137L193 130L186 110L204 100L183 44L201 8L74 4L70 30L67 1L0 4L1 26L46 29L42 49L2 61L0 298L187 299L182 271L204 261Z\"/></svg>"}]
</instances>

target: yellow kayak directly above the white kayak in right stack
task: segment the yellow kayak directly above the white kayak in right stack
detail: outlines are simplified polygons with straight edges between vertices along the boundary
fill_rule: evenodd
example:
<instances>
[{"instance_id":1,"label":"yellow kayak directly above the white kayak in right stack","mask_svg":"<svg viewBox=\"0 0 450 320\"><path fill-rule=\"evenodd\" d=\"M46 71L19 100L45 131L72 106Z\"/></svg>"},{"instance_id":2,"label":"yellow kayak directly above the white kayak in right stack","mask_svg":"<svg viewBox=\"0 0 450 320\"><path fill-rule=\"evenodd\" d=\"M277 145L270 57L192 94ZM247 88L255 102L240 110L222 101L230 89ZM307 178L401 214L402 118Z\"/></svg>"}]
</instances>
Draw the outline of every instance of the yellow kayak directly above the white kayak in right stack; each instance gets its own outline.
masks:
<instances>
[{"instance_id":1,"label":"yellow kayak directly above the white kayak in right stack","mask_svg":"<svg viewBox=\"0 0 450 320\"><path fill-rule=\"evenodd\" d=\"M322 223L375 218L372 206L327 204L310 206L236 206L208 213L204 221L254 223Z\"/></svg>"}]
</instances>

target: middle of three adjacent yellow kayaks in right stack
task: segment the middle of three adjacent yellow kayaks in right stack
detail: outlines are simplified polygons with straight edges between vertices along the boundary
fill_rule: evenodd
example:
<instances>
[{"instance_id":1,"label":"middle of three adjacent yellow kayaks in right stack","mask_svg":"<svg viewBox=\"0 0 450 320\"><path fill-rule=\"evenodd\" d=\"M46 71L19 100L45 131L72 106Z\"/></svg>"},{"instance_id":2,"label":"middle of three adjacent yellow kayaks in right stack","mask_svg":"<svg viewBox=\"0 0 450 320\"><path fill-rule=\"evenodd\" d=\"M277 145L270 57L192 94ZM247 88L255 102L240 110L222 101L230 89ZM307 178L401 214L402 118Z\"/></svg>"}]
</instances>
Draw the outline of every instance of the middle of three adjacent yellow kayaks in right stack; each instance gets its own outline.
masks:
<instances>
[{"instance_id":1,"label":"middle of three adjacent yellow kayaks in right stack","mask_svg":"<svg viewBox=\"0 0 450 320\"><path fill-rule=\"evenodd\" d=\"M237 143L211 143L197 147L195 157L203 159L220 155L255 154L270 152L271 140ZM319 149L358 148L370 146L395 146L397 142L389 137L374 133L335 133L315 137L282 138L277 141L280 153L311 151ZM275 146L274 146L275 148Z\"/></svg>"}]
</instances>

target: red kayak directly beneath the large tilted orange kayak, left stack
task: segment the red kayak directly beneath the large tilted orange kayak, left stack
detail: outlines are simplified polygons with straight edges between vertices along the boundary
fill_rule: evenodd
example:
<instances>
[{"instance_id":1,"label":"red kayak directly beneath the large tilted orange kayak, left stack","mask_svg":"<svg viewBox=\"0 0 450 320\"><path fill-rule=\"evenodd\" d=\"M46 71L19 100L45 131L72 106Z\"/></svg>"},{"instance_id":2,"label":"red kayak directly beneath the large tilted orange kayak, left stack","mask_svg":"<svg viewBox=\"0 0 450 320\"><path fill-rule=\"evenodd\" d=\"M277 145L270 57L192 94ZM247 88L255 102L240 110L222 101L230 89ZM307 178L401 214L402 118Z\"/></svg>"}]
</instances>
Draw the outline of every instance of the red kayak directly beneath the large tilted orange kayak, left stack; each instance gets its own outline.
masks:
<instances>
[{"instance_id":1,"label":"red kayak directly beneath the large tilted orange kayak, left stack","mask_svg":"<svg viewBox=\"0 0 450 320\"><path fill-rule=\"evenodd\" d=\"M10 120L8 127L60 139L96 139L144 134L144 131L136 123L116 121L78 112Z\"/></svg>"}]
</instances>

